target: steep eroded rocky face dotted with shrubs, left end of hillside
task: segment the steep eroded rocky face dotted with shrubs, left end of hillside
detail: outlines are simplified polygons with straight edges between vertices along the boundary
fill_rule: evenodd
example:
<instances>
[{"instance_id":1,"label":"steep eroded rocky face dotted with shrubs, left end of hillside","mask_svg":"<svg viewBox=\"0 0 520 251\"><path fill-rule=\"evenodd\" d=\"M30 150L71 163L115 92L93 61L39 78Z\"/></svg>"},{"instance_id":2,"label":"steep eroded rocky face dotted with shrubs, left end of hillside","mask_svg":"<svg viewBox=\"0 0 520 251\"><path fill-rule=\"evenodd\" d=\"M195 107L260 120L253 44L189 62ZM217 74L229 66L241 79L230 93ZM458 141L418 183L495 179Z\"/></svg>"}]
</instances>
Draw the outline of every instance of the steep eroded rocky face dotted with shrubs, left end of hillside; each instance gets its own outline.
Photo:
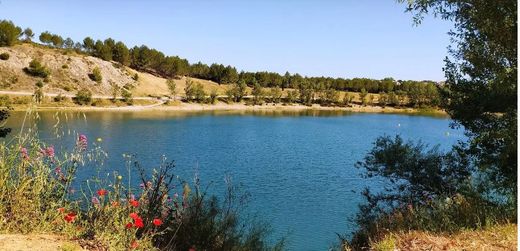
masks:
<instances>
[{"instance_id":1,"label":"steep eroded rocky face dotted with shrubs, left end of hillside","mask_svg":"<svg viewBox=\"0 0 520 251\"><path fill-rule=\"evenodd\" d=\"M73 94L81 88L90 89L99 95L110 95L112 84L123 87L136 85L131 70L115 62L80 55L65 50L50 49L31 44L0 47L0 53L8 53L8 60L0 60L0 89L33 91L41 78L24 73L23 68L33 59L38 59L51 74L46 91ZM89 74L98 67L103 77L100 83L92 81Z\"/></svg>"}]
</instances>

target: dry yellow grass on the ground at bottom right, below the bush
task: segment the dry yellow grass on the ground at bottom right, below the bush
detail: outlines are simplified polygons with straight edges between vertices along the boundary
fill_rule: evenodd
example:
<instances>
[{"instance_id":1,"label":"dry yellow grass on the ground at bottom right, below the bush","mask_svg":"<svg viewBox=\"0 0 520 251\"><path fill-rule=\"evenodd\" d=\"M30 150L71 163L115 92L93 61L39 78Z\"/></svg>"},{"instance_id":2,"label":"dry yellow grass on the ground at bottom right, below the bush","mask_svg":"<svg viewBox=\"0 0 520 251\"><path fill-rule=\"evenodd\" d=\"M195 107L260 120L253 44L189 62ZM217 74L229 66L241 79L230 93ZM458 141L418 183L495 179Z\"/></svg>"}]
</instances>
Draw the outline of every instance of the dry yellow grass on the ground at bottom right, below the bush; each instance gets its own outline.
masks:
<instances>
[{"instance_id":1,"label":"dry yellow grass on the ground at bottom right, below the bush","mask_svg":"<svg viewBox=\"0 0 520 251\"><path fill-rule=\"evenodd\" d=\"M516 250L516 224L505 224L477 231L462 231L453 235L438 235L420 231L391 233L373 243L374 250Z\"/></svg>"}]
</instances>

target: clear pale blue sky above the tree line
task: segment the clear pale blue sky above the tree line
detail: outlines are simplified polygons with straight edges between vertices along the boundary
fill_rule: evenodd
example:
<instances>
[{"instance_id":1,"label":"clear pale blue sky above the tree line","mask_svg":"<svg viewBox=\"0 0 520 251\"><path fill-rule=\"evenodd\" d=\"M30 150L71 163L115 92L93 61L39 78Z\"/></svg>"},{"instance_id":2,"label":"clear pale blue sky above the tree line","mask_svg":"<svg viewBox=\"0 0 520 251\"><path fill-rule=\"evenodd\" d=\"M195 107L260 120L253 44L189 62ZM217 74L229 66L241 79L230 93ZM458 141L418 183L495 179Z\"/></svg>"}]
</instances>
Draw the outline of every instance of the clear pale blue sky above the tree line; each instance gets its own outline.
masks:
<instances>
[{"instance_id":1,"label":"clear pale blue sky above the tree line","mask_svg":"<svg viewBox=\"0 0 520 251\"><path fill-rule=\"evenodd\" d=\"M0 1L0 18L37 34L307 76L442 80L452 27L430 17L414 26L394 0Z\"/></svg>"}]
</instances>

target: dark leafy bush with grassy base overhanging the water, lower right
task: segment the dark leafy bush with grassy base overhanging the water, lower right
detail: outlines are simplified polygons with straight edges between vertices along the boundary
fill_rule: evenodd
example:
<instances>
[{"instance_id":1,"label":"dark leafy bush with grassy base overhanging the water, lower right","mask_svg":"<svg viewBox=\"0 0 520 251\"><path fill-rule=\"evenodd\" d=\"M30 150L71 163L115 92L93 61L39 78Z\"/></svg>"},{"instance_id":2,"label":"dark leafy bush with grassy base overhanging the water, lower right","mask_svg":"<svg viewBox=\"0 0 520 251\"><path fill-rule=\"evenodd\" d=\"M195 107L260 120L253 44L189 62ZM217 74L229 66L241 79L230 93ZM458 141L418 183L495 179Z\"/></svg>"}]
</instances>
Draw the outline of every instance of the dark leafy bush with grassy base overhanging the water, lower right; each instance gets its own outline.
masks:
<instances>
[{"instance_id":1,"label":"dark leafy bush with grassy base overhanging the water, lower right","mask_svg":"<svg viewBox=\"0 0 520 251\"><path fill-rule=\"evenodd\" d=\"M515 221L515 205L480 192L485 184L472 177L474 168L462 148L444 153L399 136L378 138L357 167L364 178L384 186L378 193L363 192L366 203L360 206L352 245L364 247L385 231L450 233Z\"/></svg>"}]
</instances>

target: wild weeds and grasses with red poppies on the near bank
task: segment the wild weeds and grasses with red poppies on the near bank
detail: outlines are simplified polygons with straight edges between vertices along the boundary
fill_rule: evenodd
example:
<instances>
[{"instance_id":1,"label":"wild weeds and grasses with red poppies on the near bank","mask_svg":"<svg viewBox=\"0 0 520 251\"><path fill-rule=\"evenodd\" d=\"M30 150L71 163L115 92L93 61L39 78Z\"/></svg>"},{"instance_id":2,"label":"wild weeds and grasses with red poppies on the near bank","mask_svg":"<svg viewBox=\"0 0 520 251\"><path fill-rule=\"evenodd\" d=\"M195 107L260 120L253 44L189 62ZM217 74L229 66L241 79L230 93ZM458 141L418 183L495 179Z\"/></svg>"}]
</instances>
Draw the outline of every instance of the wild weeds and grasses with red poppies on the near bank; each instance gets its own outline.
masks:
<instances>
[{"instance_id":1,"label":"wild weeds and grasses with red poppies on the near bank","mask_svg":"<svg viewBox=\"0 0 520 251\"><path fill-rule=\"evenodd\" d=\"M77 134L57 153L35 130L0 143L0 229L5 233L57 233L109 250L281 250L265 224L243 217L246 197L229 184L224 200L190 184L163 159L145 169L126 155L130 177L112 173L79 180L77 171L100 168L101 139ZM58 134L57 134L58 135ZM128 181L126 183L125 181Z\"/></svg>"}]
</instances>

